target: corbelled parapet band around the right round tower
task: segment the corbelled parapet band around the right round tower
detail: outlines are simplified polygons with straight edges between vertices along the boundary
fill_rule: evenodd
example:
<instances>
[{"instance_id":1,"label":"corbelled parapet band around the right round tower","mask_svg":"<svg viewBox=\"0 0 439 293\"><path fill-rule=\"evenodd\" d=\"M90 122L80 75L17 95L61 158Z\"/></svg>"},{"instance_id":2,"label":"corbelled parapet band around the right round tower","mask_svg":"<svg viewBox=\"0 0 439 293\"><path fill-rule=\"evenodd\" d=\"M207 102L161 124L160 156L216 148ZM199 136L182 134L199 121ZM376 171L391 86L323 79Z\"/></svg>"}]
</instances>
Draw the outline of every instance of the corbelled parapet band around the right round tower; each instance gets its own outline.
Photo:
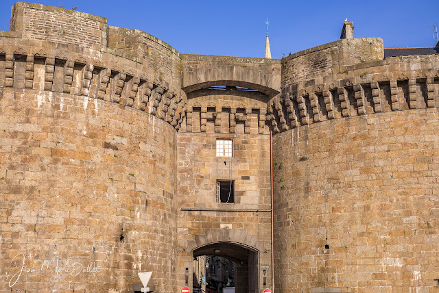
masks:
<instances>
[{"instance_id":1,"label":"corbelled parapet band around the right round tower","mask_svg":"<svg viewBox=\"0 0 439 293\"><path fill-rule=\"evenodd\" d=\"M420 55L343 66L295 83L283 76L281 96L268 104L268 120L278 133L335 118L439 107L438 68L438 55Z\"/></svg>"}]
</instances>

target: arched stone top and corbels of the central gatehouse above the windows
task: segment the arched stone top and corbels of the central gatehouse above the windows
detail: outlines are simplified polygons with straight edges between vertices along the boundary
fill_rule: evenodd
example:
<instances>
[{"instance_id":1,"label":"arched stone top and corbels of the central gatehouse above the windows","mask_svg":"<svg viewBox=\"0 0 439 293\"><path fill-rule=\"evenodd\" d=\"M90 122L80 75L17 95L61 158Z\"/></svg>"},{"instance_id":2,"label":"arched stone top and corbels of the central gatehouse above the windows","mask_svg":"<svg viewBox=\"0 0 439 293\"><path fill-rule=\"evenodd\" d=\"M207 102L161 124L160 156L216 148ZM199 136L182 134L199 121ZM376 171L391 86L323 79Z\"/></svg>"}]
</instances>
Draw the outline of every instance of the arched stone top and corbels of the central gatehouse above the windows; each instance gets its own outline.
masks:
<instances>
[{"instance_id":1,"label":"arched stone top and corbels of the central gatehouse above the windows","mask_svg":"<svg viewBox=\"0 0 439 293\"><path fill-rule=\"evenodd\" d=\"M267 102L281 92L280 60L182 54L182 65L186 131L268 133Z\"/></svg>"}]
</instances>

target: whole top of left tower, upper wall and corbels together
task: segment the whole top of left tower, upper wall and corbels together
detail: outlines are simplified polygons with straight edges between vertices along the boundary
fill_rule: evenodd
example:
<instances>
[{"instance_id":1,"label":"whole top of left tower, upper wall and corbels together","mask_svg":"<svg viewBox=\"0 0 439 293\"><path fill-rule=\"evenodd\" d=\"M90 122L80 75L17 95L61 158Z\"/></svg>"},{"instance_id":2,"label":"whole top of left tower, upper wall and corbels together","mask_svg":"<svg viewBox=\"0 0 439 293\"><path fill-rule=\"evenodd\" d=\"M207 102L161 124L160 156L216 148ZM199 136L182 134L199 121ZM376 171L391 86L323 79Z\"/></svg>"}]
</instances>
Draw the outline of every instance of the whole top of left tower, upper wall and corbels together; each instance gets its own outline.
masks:
<instances>
[{"instance_id":1,"label":"whole top of left tower, upper wall and corbels together","mask_svg":"<svg viewBox=\"0 0 439 293\"><path fill-rule=\"evenodd\" d=\"M0 34L0 87L110 101L176 129L186 103L176 78L180 67L178 51L143 31L46 5L16 3L11 31Z\"/></svg>"}]
</instances>

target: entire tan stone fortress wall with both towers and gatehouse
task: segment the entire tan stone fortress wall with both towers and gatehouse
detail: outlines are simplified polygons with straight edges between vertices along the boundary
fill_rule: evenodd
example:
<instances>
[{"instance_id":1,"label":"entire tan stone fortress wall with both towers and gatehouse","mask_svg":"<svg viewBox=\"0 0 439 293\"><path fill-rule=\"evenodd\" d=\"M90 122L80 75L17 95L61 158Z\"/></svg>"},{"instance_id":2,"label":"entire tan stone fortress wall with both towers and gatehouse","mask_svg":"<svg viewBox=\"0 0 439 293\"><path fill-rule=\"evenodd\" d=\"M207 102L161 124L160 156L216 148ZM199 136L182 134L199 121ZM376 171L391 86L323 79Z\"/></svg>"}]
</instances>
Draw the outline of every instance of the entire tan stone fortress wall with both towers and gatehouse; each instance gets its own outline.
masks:
<instances>
[{"instance_id":1,"label":"entire tan stone fortress wall with both towers and gatehouse","mask_svg":"<svg viewBox=\"0 0 439 293\"><path fill-rule=\"evenodd\" d=\"M272 287L272 251L276 292L435 292L438 56L384 58L379 38L180 54L16 3L0 31L0 292L130 292L145 270L177 292L218 242L258 255L238 292ZM215 201L217 179L235 203Z\"/></svg>"}]
</instances>

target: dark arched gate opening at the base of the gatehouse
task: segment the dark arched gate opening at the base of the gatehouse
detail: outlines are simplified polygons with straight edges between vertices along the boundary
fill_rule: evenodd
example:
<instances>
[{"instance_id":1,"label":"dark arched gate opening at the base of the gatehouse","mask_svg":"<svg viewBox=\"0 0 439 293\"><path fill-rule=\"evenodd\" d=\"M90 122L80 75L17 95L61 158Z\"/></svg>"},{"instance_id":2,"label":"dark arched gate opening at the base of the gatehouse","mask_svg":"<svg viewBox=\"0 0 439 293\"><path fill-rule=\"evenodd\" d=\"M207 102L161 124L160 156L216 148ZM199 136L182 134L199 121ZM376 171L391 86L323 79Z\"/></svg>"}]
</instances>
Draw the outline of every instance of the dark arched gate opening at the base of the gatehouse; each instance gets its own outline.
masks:
<instances>
[{"instance_id":1,"label":"dark arched gate opening at the base of the gatehouse","mask_svg":"<svg viewBox=\"0 0 439 293\"><path fill-rule=\"evenodd\" d=\"M215 242L200 246L193 250L193 292L222 293L224 288L234 287L235 293L257 293L258 267L259 252L244 244Z\"/></svg>"}]
</instances>

